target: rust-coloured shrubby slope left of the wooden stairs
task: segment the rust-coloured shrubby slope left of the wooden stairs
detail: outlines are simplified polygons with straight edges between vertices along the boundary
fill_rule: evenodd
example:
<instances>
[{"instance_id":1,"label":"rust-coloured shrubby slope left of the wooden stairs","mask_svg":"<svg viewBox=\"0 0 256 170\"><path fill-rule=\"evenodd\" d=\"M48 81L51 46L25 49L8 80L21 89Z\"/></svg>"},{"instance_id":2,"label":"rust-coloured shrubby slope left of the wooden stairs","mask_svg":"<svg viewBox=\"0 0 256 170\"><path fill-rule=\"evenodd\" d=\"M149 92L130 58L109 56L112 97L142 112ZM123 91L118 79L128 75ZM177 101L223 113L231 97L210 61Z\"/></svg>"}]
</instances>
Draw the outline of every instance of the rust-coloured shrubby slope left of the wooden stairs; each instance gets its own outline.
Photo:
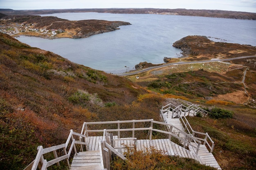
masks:
<instances>
[{"instance_id":1,"label":"rust-coloured shrubby slope left of the wooden stairs","mask_svg":"<svg viewBox=\"0 0 256 170\"><path fill-rule=\"evenodd\" d=\"M62 144L83 121L124 119L119 113L112 117L109 107L124 107L145 92L128 79L0 33L0 169L24 168L39 144Z\"/></svg>"}]
</instances>

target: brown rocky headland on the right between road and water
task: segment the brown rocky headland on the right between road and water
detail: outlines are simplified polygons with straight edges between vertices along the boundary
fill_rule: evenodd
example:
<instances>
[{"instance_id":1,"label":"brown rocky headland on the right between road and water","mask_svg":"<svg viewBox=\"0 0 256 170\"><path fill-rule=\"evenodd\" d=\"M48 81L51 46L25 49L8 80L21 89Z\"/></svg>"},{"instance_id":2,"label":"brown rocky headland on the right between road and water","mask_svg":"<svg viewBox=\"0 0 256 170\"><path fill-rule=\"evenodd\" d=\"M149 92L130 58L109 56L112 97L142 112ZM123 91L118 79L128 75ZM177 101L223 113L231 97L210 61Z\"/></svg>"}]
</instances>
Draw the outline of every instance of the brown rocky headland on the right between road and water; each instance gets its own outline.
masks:
<instances>
[{"instance_id":1,"label":"brown rocky headland on the right between road and water","mask_svg":"<svg viewBox=\"0 0 256 170\"><path fill-rule=\"evenodd\" d=\"M189 35L173 43L173 47L182 50L179 58L164 57L165 63L182 61L211 60L213 58L233 58L240 56L251 56L256 54L256 46L241 45L226 42L214 42L207 36ZM151 66L162 64L152 64L140 62L135 65L136 70L141 70Z\"/></svg>"}]
</instances>

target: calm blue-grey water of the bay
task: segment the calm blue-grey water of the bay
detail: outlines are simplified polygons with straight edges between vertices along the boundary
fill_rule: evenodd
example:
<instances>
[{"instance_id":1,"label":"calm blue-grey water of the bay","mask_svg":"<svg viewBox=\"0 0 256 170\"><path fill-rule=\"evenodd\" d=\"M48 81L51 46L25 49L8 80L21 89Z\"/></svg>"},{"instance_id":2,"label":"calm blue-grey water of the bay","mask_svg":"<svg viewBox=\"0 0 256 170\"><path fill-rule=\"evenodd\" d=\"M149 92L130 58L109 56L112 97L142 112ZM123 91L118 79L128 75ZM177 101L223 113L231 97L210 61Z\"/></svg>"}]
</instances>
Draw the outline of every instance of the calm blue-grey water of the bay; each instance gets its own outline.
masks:
<instances>
[{"instance_id":1,"label":"calm blue-grey water of the bay","mask_svg":"<svg viewBox=\"0 0 256 170\"><path fill-rule=\"evenodd\" d=\"M256 21L155 14L55 13L68 20L126 21L120 30L82 39L43 39L20 36L21 42L52 51L68 60L107 73L123 73L139 62L163 63L164 57L180 57L172 44L188 35L204 35L214 41L256 46Z\"/></svg>"}]
</instances>

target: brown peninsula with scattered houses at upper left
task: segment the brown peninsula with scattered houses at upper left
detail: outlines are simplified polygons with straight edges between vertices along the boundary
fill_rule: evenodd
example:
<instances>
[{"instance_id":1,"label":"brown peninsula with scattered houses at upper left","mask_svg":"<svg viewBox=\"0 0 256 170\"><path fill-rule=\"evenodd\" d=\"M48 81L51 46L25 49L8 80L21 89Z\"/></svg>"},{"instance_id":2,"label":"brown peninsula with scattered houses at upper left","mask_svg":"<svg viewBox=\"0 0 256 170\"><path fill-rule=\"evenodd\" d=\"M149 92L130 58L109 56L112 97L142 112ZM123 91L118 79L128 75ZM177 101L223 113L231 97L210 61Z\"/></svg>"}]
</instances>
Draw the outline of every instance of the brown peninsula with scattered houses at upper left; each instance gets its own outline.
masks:
<instances>
[{"instance_id":1,"label":"brown peninsula with scattered houses at upper left","mask_svg":"<svg viewBox=\"0 0 256 170\"><path fill-rule=\"evenodd\" d=\"M129 22L106 20L70 21L53 16L0 15L0 25L9 35L40 38L87 38L91 35L115 31Z\"/></svg>"}]
</instances>

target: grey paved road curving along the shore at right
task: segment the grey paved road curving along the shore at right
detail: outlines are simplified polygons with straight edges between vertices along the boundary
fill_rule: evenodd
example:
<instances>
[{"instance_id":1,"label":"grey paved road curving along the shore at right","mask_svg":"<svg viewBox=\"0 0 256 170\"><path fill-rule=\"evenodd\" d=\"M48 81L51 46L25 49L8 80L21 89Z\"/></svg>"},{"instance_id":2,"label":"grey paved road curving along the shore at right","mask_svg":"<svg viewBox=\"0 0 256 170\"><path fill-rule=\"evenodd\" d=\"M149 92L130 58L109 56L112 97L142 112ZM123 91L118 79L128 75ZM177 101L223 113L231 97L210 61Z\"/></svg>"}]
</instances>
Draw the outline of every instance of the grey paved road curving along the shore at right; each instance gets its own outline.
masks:
<instances>
[{"instance_id":1,"label":"grey paved road curving along the shore at right","mask_svg":"<svg viewBox=\"0 0 256 170\"><path fill-rule=\"evenodd\" d=\"M145 71L153 70L153 69L156 69L156 68L164 68L164 67L167 67L167 66L177 65L177 64L192 64L192 63L204 63L204 62L229 61L229 60L237 60L237 59L249 58L249 57L256 57L256 55L242 56L242 57L234 57L234 58L226 58L226 59L212 59L212 60L195 61L195 62L175 62L175 63L164 64L164 65L161 65L161 66L148 67L148 68L145 68L145 69L143 69L143 70L135 71L135 72L132 72L132 73L122 73L122 74L118 74L118 75L119 75L119 76L135 75L135 74L143 73L143 72L145 72Z\"/></svg>"}]
</instances>

